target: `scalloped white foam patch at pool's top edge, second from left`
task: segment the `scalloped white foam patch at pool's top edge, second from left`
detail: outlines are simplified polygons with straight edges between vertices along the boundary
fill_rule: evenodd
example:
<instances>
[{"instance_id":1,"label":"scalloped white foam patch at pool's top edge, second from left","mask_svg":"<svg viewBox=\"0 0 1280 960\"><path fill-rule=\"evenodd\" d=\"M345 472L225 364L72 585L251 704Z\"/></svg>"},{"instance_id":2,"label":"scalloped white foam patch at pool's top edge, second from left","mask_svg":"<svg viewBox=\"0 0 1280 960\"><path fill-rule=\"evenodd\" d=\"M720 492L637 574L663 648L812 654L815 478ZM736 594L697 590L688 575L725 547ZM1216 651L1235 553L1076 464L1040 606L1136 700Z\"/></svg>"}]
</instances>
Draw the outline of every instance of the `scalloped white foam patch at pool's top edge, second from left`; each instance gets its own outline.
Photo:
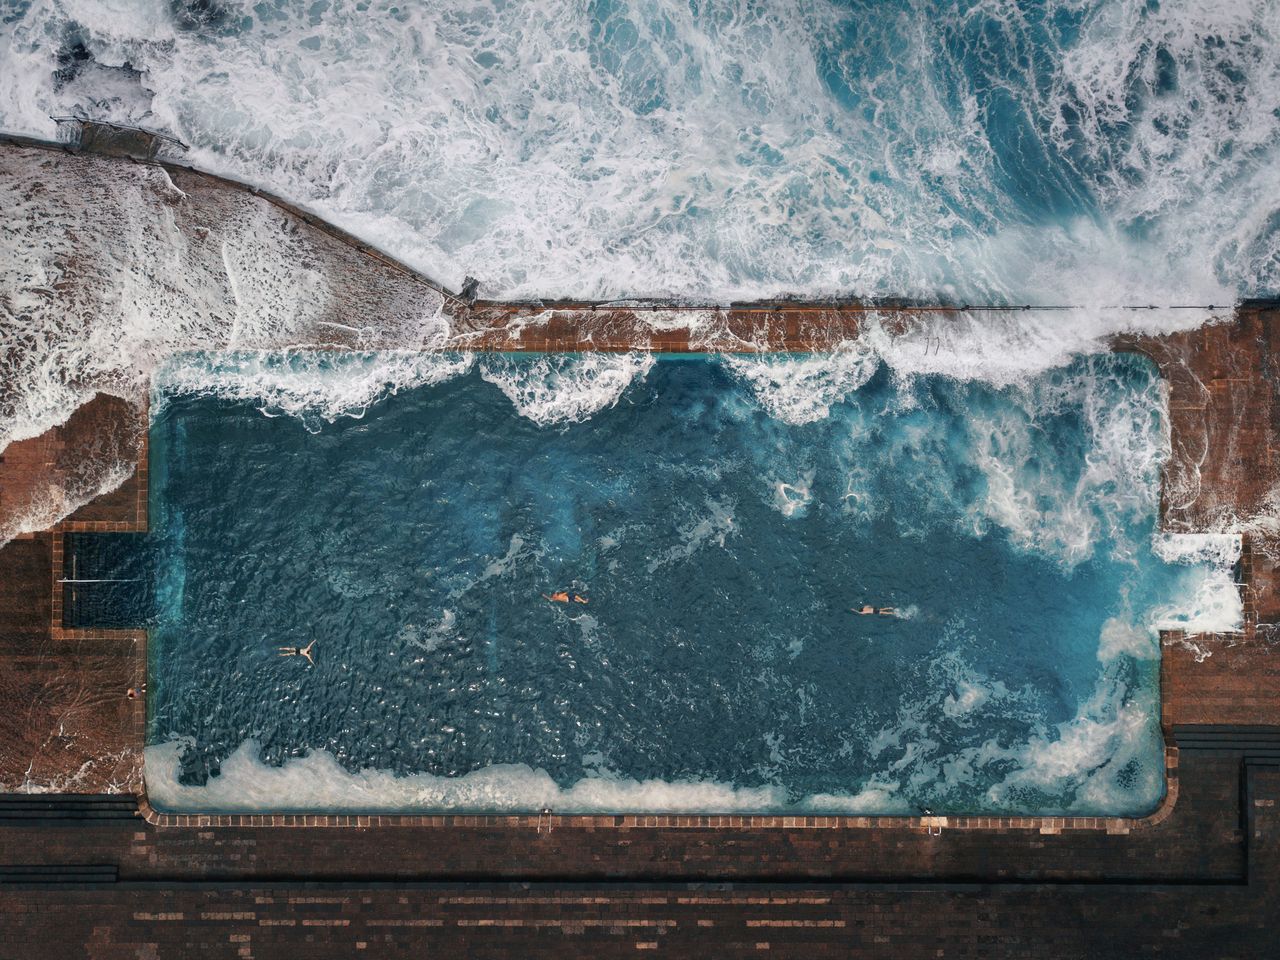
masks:
<instances>
[{"instance_id":1,"label":"scalloped white foam patch at pool's top edge, second from left","mask_svg":"<svg viewBox=\"0 0 1280 960\"><path fill-rule=\"evenodd\" d=\"M507 394L521 416L549 426L580 424L612 407L654 362L652 353L641 352L488 357L480 375Z\"/></svg>"}]
</instances>

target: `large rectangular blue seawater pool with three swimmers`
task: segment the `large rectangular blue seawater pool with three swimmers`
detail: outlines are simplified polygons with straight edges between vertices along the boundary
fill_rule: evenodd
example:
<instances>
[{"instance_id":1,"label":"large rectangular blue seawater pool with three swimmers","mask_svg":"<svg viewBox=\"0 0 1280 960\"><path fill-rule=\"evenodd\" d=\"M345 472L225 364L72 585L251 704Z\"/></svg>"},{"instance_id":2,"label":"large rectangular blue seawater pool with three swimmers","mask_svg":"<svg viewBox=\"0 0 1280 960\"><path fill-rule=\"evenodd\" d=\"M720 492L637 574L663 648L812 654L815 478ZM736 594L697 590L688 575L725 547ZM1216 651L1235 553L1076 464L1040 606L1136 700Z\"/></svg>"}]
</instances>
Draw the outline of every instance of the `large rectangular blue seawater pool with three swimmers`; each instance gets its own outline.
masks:
<instances>
[{"instance_id":1,"label":"large rectangular blue seawater pool with three swimmers","mask_svg":"<svg viewBox=\"0 0 1280 960\"><path fill-rule=\"evenodd\" d=\"M1236 613L1155 532L1166 445L1132 356L183 356L151 801L1143 814L1156 630Z\"/></svg>"}]
</instances>

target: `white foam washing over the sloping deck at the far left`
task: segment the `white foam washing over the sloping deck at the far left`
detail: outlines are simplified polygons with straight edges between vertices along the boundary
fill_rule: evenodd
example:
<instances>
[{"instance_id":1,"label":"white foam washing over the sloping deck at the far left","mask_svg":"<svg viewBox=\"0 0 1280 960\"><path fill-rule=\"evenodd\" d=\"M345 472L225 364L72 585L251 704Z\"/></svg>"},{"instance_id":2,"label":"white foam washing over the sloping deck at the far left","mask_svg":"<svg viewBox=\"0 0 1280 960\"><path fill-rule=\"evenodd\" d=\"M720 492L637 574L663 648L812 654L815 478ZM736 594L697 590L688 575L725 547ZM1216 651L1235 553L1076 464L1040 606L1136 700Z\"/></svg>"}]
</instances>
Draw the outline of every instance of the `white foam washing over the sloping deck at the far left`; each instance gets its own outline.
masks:
<instances>
[{"instance_id":1,"label":"white foam washing over the sloping deck at the far left","mask_svg":"<svg viewBox=\"0 0 1280 960\"><path fill-rule=\"evenodd\" d=\"M0 155L0 452L64 422L95 393L141 407L152 374L175 352L419 349L442 337L440 297L407 279L367 282L364 257L297 230L265 201L196 200L161 169L93 159L67 161L50 182L40 161L47 156ZM361 326L346 323L352 314L364 316ZM397 375L434 361L399 362ZM229 370L224 389L260 388L282 408L348 403L351 383L306 379L271 383L265 367ZM337 394L323 397L328 388ZM128 475L118 466L81 457L74 489L51 492L50 502L74 509L114 489ZM47 521L36 511L23 525ZM0 535L13 532L20 530Z\"/></svg>"}]
</instances>

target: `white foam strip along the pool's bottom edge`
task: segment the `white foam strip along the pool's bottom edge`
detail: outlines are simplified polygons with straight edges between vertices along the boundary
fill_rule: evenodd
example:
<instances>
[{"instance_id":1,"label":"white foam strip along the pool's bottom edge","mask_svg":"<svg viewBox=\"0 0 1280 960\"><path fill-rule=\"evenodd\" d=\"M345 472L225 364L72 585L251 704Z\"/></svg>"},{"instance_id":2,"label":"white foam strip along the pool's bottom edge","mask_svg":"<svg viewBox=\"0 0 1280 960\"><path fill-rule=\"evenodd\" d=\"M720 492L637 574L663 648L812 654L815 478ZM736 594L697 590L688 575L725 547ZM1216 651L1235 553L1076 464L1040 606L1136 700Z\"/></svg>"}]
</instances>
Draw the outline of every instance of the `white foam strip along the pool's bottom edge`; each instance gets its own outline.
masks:
<instances>
[{"instance_id":1,"label":"white foam strip along the pool's bottom edge","mask_svg":"<svg viewBox=\"0 0 1280 960\"><path fill-rule=\"evenodd\" d=\"M1056 740L1027 744L1018 750L992 746L984 762L1028 759L1030 765L1010 774L988 797L993 812L1020 809L1020 794L1053 791L1064 781L1079 782L1079 800L1055 813L1114 810L1115 787L1093 774L1114 759L1126 763L1149 736L1138 712L1121 710L1112 719L1082 718L1066 724ZM1126 753L1121 753L1123 745ZM147 799L161 813L485 813L534 814L846 814L915 815L920 813L902 792L904 782L873 777L847 794L822 792L788 800L777 785L744 787L717 781L631 780L609 772L558 785L545 771L527 764L497 764L458 777L389 771L348 771L325 750L268 764L253 740L241 744L221 763L220 773L201 786L179 780L179 758L187 742L173 740L146 748ZM1082 764L1089 773L1082 774ZM966 774L952 764L950 777ZM914 786L922 785L916 778ZM1153 806L1162 794L1164 771L1142 783L1142 806ZM1133 797L1124 797L1132 803ZM989 815L989 813L988 813Z\"/></svg>"}]
</instances>

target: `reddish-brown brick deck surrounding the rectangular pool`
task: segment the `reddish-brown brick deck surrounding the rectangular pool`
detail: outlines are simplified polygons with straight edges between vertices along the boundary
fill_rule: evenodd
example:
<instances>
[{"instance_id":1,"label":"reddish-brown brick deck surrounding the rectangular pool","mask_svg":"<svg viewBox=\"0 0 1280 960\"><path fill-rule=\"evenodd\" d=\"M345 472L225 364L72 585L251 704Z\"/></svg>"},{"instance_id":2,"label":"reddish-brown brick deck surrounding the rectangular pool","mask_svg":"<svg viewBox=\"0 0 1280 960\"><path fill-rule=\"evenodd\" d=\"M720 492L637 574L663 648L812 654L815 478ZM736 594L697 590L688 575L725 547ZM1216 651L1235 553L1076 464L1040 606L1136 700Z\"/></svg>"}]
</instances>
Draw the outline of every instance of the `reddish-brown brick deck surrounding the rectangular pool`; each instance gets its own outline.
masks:
<instances>
[{"instance_id":1,"label":"reddish-brown brick deck surrounding the rectangular pool","mask_svg":"<svg viewBox=\"0 0 1280 960\"><path fill-rule=\"evenodd\" d=\"M233 189L173 175L187 192ZM371 269L399 289L402 268ZM476 349L681 352L818 349L872 310L904 324L928 312L705 310L690 337L663 305L657 326L654 310L616 305L451 310ZM1258 522L1280 484L1277 338L1280 310L1242 305L1114 344L1169 383L1166 529L1244 532L1243 631L1164 637L1172 777L1139 820L157 817L142 701L124 696L145 676L145 634L63 630L55 600L63 534L146 527L145 411L100 394L0 453L0 529L41 498L70 502L77 463L104 444L143 466L0 548L0 955L1260 956L1280 893L1280 540Z\"/></svg>"}]
</instances>

